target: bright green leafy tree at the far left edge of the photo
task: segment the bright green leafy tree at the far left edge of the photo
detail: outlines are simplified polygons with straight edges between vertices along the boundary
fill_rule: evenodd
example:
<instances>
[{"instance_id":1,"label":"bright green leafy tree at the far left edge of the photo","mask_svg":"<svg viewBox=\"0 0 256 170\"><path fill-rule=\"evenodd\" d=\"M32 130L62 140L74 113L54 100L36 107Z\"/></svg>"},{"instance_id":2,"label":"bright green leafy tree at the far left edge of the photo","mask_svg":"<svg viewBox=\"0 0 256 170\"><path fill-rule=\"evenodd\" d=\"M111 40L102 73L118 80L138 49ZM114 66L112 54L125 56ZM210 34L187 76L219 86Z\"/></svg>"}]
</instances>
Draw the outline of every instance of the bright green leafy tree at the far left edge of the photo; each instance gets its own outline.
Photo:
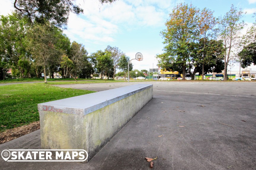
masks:
<instances>
[{"instance_id":1,"label":"bright green leafy tree at the far left edge of the photo","mask_svg":"<svg viewBox=\"0 0 256 170\"><path fill-rule=\"evenodd\" d=\"M21 77L31 77L31 54L26 50L26 30L29 25L17 14L0 16L0 56L12 69L18 69Z\"/></svg>"}]
</instances>

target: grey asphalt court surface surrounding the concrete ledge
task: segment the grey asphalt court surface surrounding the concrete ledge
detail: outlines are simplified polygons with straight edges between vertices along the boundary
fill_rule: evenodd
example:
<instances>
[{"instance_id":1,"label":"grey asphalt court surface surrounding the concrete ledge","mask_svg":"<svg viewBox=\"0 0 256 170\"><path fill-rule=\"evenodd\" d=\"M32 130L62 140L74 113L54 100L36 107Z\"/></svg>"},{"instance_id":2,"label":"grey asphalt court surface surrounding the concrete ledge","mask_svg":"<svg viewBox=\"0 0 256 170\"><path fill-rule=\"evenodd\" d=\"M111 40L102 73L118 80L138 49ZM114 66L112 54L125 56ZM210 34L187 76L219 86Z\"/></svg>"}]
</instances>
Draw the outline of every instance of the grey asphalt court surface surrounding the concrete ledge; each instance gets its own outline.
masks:
<instances>
[{"instance_id":1,"label":"grey asphalt court surface surrounding the concrete ledge","mask_svg":"<svg viewBox=\"0 0 256 170\"><path fill-rule=\"evenodd\" d=\"M0 158L0 169L150 169L145 157L156 156L153 169L256 169L256 82L139 83L153 84L153 99L88 163ZM58 86L102 91L129 84ZM40 144L38 130L1 144L0 152Z\"/></svg>"}]
</instances>

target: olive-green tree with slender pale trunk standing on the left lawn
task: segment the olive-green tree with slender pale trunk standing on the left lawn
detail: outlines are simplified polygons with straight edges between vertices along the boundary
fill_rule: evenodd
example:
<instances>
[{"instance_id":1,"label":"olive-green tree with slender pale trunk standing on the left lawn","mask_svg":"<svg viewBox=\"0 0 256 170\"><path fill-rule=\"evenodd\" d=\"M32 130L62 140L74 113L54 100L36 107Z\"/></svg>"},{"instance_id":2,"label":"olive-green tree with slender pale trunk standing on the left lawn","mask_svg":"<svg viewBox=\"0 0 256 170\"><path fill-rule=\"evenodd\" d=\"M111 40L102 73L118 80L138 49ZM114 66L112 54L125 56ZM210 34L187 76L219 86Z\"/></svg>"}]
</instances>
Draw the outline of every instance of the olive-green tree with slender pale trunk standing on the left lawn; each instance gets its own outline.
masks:
<instances>
[{"instance_id":1,"label":"olive-green tree with slender pale trunk standing on the left lawn","mask_svg":"<svg viewBox=\"0 0 256 170\"><path fill-rule=\"evenodd\" d=\"M38 66L44 68L44 82L47 83L47 69L53 63L60 63L62 50L57 47L56 34L61 34L58 28L45 24L36 24L28 30L28 49Z\"/></svg>"}]
</instances>

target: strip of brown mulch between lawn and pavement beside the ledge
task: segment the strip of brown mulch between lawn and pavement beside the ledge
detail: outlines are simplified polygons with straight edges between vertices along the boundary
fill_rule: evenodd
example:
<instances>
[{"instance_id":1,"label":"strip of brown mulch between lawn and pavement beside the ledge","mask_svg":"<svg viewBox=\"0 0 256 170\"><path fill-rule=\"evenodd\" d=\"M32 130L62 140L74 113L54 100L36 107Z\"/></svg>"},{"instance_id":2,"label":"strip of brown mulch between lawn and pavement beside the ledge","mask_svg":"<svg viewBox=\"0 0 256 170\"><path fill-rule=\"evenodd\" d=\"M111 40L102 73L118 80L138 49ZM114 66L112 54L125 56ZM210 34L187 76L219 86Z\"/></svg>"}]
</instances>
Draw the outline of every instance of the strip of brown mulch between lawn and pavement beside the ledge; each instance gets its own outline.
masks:
<instances>
[{"instance_id":1,"label":"strip of brown mulch between lawn and pavement beside the ledge","mask_svg":"<svg viewBox=\"0 0 256 170\"><path fill-rule=\"evenodd\" d=\"M20 136L26 135L38 129L40 129L39 121L30 123L29 125L8 129L0 133L0 144L9 142L10 140L16 139Z\"/></svg>"}]
</instances>

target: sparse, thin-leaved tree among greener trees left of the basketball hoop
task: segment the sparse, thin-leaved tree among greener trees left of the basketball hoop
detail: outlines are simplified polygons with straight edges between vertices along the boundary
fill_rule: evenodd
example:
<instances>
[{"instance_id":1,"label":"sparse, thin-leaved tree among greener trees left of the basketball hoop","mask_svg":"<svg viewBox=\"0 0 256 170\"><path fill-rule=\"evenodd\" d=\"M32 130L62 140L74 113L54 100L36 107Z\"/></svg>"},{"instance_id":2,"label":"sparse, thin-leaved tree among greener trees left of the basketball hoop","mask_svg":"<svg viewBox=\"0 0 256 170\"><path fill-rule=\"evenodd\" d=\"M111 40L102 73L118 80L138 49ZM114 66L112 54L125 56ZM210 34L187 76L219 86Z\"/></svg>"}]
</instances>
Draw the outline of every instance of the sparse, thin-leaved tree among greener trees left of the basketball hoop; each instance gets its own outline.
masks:
<instances>
[{"instance_id":1,"label":"sparse, thin-leaved tree among greener trees left of the basketball hoop","mask_svg":"<svg viewBox=\"0 0 256 170\"><path fill-rule=\"evenodd\" d=\"M124 55L124 53L119 50L118 47L111 47L110 45L107 46L105 51L108 51L111 53L111 58L113 60L113 79L115 78L116 69L118 68L118 62L120 60L120 57Z\"/></svg>"}]
</instances>

